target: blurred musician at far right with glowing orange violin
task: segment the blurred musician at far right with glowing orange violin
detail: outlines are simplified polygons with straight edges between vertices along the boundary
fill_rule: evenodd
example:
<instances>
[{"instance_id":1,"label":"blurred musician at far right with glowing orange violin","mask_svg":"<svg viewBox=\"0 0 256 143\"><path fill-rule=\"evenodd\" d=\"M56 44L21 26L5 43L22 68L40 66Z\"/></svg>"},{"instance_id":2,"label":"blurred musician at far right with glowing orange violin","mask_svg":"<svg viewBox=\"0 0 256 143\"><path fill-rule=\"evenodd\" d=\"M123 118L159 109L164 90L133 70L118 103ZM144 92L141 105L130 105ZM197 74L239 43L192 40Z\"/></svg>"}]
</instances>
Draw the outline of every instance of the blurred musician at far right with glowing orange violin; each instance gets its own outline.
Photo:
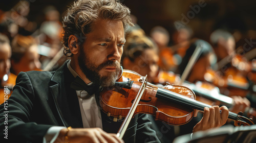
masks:
<instances>
[{"instance_id":1,"label":"blurred musician at far right with glowing orange violin","mask_svg":"<svg viewBox=\"0 0 256 143\"><path fill-rule=\"evenodd\" d=\"M220 80L213 79L211 82L226 96L246 97L249 86L246 77L250 66L247 59L237 53L239 49L235 49L234 37L228 31L219 29L211 33L210 41L217 56L217 63L214 66L217 72L214 76L215 79L220 77Z\"/></svg>"}]
</instances>

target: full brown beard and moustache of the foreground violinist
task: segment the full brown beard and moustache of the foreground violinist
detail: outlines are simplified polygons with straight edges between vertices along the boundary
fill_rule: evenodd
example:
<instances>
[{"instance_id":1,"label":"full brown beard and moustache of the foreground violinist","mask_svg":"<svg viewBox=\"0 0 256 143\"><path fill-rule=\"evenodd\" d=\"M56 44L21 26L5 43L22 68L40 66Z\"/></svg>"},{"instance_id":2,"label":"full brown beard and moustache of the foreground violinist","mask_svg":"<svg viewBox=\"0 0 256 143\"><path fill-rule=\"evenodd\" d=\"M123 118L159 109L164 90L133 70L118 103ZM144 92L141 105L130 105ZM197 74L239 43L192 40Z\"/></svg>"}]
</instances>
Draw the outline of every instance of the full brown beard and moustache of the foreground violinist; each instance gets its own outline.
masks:
<instances>
[{"instance_id":1,"label":"full brown beard and moustache of the foreground violinist","mask_svg":"<svg viewBox=\"0 0 256 143\"><path fill-rule=\"evenodd\" d=\"M121 65L118 61L106 61L99 66L96 66L92 60L88 58L83 49L80 50L80 55L78 56L78 64L83 74L93 83L96 83L102 87L109 87L115 84L118 78L119 72L121 70ZM106 76L100 75L100 70L107 66L116 67L115 72L110 72Z\"/></svg>"}]
</instances>

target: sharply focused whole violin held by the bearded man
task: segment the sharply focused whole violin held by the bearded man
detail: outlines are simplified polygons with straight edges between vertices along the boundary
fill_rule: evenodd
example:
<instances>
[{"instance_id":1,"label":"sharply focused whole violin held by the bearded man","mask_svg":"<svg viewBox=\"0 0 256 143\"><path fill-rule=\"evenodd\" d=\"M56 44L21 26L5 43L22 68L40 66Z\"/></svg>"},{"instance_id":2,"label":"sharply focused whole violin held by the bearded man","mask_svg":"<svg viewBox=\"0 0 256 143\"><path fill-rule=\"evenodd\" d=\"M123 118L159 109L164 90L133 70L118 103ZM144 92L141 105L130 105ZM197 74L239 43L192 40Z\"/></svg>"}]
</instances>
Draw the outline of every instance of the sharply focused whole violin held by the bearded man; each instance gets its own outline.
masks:
<instances>
[{"instance_id":1,"label":"sharply focused whole violin held by the bearded man","mask_svg":"<svg viewBox=\"0 0 256 143\"><path fill-rule=\"evenodd\" d=\"M143 91L141 92L141 88ZM156 86L145 82L142 76L132 70L123 70L115 86L103 88L100 92L100 106L108 116L125 117L137 101L136 94L141 92L134 114L147 113L155 115L155 120L170 125L183 125L204 111L208 104L196 101L195 93L187 87L178 85ZM248 118L229 112L228 118L236 126L253 125Z\"/></svg>"}]
</instances>

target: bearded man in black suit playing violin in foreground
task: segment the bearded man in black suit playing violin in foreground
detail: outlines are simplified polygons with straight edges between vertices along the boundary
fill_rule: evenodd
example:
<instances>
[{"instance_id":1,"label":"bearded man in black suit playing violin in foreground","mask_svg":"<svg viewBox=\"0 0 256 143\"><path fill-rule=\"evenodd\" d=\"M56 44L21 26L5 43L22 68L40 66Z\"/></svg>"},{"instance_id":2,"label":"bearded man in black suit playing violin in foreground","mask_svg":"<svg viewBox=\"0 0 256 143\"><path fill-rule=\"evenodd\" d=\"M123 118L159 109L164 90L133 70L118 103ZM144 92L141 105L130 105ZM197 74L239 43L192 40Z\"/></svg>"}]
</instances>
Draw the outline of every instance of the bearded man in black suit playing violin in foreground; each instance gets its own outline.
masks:
<instances>
[{"instance_id":1,"label":"bearded man in black suit playing violin in foreground","mask_svg":"<svg viewBox=\"0 0 256 143\"><path fill-rule=\"evenodd\" d=\"M112 86L121 69L127 25L132 26L130 10L120 3L76 1L63 20L65 55L71 60L53 72L18 75L7 110L3 104L0 106L0 120L6 120L4 111L9 111L8 125L0 123L1 139L8 136L18 142L159 142L146 114L135 115L123 140L117 138L112 133L117 132L121 122L111 120L97 104L98 86ZM80 89L79 80L96 86ZM194 130L221 126L227 115L225 107L205 109L204 120Z\"/></svg>"}]
</instances>

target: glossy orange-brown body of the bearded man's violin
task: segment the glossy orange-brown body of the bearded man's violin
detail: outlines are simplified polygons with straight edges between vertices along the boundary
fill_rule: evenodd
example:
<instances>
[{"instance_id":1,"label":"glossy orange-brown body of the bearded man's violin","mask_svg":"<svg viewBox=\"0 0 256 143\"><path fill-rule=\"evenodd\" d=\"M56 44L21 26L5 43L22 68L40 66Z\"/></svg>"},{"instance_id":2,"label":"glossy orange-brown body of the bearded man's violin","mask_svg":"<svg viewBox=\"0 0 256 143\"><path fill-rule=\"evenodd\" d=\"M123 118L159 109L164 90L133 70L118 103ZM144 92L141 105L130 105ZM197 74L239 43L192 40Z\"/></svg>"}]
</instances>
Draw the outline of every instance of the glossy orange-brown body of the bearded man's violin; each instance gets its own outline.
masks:
<instances>
[{"instance_id":1,"label":"glossy orange-brown body of the bearded man's violin","mask_svg":"<svg viewBox=\"0 0 256 143\"><path fill-rule=\"evenodd\" d=\"M132 75L132 76L131 76ZM131 78L132 77L132 78ZM136 93L141 86L141 76L131 70L123 70L122 77L119 82L133 80L131 89L125 89L118 86L104 88L100 96L100 105L102 110L108 115L115 117L125 117L136 98ZM143 96L136 108L137 113L148 113L155 115L155 120L163 121L171 125L183 125L191 120L195 114L195 110L186 108L177 103L170 103L163 99L156 98L157 86L149 85L143 93ZM173 91L191 99L196 99L195 93L181 86L167 85L163 87L169 91ZM135 115L134 114L134 115Z\"/></svg>"}]
</instances>

